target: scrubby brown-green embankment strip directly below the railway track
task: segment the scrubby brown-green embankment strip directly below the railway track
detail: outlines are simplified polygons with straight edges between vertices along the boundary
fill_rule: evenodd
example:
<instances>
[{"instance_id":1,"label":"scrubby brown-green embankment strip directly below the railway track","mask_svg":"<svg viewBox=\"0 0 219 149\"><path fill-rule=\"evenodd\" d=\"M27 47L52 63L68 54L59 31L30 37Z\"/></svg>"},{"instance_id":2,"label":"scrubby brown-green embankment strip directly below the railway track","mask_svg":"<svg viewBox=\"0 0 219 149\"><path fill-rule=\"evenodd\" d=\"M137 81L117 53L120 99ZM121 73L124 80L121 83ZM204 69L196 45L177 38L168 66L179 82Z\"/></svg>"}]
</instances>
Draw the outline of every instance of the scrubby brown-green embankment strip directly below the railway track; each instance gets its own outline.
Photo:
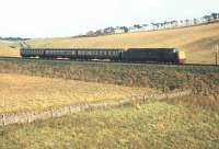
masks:
<instances>
[{"instance_id":1,"label":"scrubby brown-green embankment strip directly below the railway track","mask_svg":"<svg viewBox=\"0 0 219 149\"><path fill-rule=\"evenodd\" d=\"M45 60L0 60L0 72L66 80L148 87L159 90L193 89L218 93L219 67L89 64Z\"/></svg>"}]
</instances>

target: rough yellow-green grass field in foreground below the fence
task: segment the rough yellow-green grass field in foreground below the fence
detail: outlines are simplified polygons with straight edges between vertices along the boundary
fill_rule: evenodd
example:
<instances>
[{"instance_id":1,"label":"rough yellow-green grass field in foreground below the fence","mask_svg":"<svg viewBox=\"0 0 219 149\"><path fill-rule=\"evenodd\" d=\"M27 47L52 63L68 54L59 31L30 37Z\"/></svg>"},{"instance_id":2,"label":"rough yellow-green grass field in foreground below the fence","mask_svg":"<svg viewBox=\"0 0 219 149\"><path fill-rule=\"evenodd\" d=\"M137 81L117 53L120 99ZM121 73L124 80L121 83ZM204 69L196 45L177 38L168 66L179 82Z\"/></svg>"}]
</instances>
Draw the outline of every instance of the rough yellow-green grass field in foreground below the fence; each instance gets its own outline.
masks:
<instances>
[{"instance_id":1,"label":"rough yellow-green grass field in foreground below the fence","mask_svg":"<svg viewBox=\"0 0 219 149\"><path fill-rule=\"evenodd\" d=\"M8 126L0 129L0 148L219 148L219 113L176 101L150 101Z\"/></svg>"}]
</instances>

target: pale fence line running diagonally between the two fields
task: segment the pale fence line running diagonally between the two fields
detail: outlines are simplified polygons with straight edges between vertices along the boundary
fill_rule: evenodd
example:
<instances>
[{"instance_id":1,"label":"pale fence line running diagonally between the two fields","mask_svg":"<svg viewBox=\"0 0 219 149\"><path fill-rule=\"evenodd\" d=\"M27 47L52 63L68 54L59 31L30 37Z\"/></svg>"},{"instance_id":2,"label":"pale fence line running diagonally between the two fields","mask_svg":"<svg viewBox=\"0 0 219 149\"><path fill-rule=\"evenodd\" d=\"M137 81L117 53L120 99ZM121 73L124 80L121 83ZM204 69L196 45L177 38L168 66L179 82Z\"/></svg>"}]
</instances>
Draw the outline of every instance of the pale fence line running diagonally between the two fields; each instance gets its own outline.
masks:
<instances>
[{"instance_id":1,"label":"pale fence line running diagonally between the two fields","mask_svg":"<svg viewBox=\"0 0 219 149\"><path fill-rule=\"evenodd\" d=\"M33 123L39 119L48 119L54 117L60 117L65 115L70 115L73 113L79 113L87 110L95 110L95 108L106 108L106 107L116 107L123 106L127 104L131 104L135 102L147 101L150 99L155 100L164 100L164 99L174 99L182 98L185 95L189 95L192 91L177 91L171 93L162 93L162 94L153 94L148 96L138 96L131 98L120 101L103 101L103 102L92 102L92 103L83 103L78 105L68 105L62 107L54 107L49 110L45 110L42 112L21 112L14 114L0 114L0 126L7 126L11 124L23 124L23 123Z\"/></svg>"}]
</instances>

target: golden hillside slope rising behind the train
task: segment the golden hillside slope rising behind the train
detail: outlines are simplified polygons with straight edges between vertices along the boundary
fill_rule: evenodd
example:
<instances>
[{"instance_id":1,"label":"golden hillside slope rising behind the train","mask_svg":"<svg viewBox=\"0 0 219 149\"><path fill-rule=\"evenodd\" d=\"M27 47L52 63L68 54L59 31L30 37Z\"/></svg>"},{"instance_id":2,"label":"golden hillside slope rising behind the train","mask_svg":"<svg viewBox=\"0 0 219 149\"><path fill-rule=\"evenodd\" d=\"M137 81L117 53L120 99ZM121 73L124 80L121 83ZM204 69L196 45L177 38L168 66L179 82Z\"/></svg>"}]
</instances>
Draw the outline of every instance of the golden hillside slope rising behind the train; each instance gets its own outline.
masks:
<instances>
[{"instance_id":1,"label":"golden hillside slope rising behind the train","mask_svg":"<svg viewBox=\"0 0 219 149\"><path fill-rule=\"evenodd\" d=\"M32 39L27 44L33 47L177 47L186 51L187 62L212 64L212 46L219 44L217 31L219 23L100 37Z\"/></svg>"}]
</instances>

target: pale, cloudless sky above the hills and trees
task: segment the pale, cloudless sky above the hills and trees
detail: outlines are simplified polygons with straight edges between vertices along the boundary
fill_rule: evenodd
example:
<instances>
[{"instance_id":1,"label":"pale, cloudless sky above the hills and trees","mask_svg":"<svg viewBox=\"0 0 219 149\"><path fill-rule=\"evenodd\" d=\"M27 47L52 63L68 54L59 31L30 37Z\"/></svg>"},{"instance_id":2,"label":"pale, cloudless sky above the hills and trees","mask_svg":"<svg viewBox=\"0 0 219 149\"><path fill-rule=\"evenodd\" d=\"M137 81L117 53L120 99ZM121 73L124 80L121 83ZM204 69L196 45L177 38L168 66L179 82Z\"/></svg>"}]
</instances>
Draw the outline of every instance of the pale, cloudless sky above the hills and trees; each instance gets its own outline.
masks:
<instances>
[{"instance_id":1,"label":"pale, cloudless sky above the hills and trees","mask_svg":"<svg viewBox=\"0 0 219 149\"><path fill-rule=\"evenodd\" d=\"M61 37L219 13L219 0L0 0L0 36Z\"/></svg>"}]
</instances>

